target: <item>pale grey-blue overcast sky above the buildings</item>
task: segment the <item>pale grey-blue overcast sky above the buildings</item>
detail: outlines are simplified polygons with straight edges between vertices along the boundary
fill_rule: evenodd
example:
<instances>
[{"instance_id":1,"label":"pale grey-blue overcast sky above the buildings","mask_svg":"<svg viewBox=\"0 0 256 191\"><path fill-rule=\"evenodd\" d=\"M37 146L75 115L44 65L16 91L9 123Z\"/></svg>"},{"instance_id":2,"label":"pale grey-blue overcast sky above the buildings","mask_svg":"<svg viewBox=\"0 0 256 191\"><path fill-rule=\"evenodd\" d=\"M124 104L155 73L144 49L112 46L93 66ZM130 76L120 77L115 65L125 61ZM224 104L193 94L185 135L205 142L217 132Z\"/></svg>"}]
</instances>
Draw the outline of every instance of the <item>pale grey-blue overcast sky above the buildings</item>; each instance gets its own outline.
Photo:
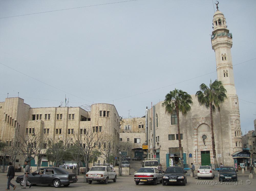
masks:
<instances>
[{"instance_id":1,"label":"pale grey-blue overcast sky above the buildings","mask_svg":"<svg viewBox=\"0 0 256 191\"><path fill-rule=\"evenodd\" d=\"M217 79L212 0L121 1L1 0L0 101L19 92L31 107L58 107L66 94L72 107L109 103L142 117L174 88L195 94ZM245 133L256 118L256 1L218 6L241 63L233 70Z\"/></svg>"}]
</instances>

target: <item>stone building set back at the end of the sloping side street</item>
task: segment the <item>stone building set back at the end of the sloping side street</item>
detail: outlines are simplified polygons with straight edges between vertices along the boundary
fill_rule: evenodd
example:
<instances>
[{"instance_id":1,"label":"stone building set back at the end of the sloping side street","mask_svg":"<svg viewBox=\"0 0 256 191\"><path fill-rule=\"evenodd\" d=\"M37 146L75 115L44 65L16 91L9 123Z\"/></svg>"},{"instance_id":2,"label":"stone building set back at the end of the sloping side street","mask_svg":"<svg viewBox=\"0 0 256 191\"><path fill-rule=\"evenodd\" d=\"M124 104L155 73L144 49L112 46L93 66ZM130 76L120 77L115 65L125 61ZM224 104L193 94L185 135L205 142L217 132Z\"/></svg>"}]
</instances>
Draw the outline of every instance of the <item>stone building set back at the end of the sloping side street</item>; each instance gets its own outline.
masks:
<instances>
[{"instance_id":1,"label":"stone building set back at the end of the sloping side street","mask_svg":"<svg viewBox=\"0 0 256 191\"><path fill-rule=\"evenodd\" d=\"M120 146L131 158L146 157L147 150L142 146L146 142L145 117L127 118L120 121Z\"/></svg>"}]
</instances>

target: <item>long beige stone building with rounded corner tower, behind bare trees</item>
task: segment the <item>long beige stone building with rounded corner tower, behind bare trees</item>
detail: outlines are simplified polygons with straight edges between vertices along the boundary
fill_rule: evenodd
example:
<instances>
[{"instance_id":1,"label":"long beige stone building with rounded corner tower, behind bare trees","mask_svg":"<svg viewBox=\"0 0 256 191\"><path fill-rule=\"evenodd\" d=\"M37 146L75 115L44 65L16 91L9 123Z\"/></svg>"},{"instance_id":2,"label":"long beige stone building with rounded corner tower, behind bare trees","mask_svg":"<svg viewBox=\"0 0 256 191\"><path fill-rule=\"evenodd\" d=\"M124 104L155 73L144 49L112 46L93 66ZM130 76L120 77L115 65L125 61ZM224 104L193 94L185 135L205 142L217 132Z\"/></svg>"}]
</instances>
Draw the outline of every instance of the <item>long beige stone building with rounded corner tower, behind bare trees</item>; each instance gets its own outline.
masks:
<instances>
[{"instance_id":1,"label":"long beige stone building with rounded corner tower, behind bare trees","mask_svg":"<svg viewBox=\"0 0 256 191\"><path fill-rule=\"evenodd\" d=\"M86 111L80 107L31 108L18 97L6 98L4 102L0 102L0 139L8 144L10 140L15 141L16 131L23 132L24 136L39 132L48 139L57 138L66 142L76 133L84 136L85 129L90 128L95 133L107 135L108 139L104 139L105 142L116 150L119 147L119 124L119 114L111 104L93 104L91 111ZM105 144L102 142L101 145L103 147ZM86 147L85 144L81 146ZM46 142L42 154L47 148ZM100 162L104 160L104 156L99 158ZM19 154L16 165L23 165L23 162L24 157ZM31 160L31 166L36 163L37 158Z\"/></svg>"}]
</instances>

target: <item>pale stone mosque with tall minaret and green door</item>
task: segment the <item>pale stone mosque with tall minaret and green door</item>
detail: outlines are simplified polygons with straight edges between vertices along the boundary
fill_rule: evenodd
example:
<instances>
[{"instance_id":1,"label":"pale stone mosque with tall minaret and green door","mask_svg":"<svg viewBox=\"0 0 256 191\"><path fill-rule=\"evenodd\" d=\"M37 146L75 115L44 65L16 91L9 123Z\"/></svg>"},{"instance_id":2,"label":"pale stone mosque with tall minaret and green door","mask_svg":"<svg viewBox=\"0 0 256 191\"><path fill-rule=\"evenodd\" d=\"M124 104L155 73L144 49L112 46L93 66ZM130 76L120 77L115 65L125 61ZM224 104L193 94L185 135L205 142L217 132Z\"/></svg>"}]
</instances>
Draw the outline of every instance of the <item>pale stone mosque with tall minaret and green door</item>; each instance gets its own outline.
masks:
<instances>
[{"instance_id":1,"label":"pale stone mosque with tall minaret and green door","mask_svg":"<svg viewBox=\"0 0 256 191\"><path fill-rule=\"evenodd\" d=\"M227 90L227 99L220 111L216 109L213 113L216 157L218 163L233 166L238 159L233 158L232 154L242 151L242 138L231 57L232 34L227 29L226 18L219 10L215 12L212 24L211 44L216 56L217 79L223 82ZM199 87L195 87L195 93L198 90ZM190 113L186 117L179 115L184 164L189 167L190 163L194 163L196 167L214 164L210 110L199 106L197 97L191 96L193 106ZM163 101L160 101L147 110L147 144L150 154L148 157L156 155L163 167L168 167L178 165L180 158L177 115L166 114L162 103Z\"/></svg>"}]
</instances>

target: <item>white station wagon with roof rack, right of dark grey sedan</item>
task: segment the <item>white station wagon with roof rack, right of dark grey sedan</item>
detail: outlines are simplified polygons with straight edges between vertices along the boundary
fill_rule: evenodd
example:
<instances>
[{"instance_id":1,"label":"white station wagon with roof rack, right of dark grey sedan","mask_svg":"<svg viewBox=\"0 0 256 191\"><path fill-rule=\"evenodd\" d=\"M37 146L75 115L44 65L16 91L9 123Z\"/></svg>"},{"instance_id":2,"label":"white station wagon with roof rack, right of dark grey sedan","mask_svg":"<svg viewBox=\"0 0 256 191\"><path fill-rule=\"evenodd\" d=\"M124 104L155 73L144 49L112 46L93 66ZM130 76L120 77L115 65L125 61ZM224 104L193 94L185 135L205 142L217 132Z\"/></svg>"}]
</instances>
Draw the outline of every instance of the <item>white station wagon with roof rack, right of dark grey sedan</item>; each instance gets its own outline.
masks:
<instances>
[{"instance_id":1,"label":"white station wagon with roof rack, right of dark grey sedan","mask_svg":"<svg viewBox=\"0 0 256 191\"><path fill-rule=\"evenodd\" d=\"M86 179L89 184L91 184L92 181L108 184L108 180L116 182L116 173L110 168L109 164L94 164L86 173Z\"/></svg>"}]
</instances>

